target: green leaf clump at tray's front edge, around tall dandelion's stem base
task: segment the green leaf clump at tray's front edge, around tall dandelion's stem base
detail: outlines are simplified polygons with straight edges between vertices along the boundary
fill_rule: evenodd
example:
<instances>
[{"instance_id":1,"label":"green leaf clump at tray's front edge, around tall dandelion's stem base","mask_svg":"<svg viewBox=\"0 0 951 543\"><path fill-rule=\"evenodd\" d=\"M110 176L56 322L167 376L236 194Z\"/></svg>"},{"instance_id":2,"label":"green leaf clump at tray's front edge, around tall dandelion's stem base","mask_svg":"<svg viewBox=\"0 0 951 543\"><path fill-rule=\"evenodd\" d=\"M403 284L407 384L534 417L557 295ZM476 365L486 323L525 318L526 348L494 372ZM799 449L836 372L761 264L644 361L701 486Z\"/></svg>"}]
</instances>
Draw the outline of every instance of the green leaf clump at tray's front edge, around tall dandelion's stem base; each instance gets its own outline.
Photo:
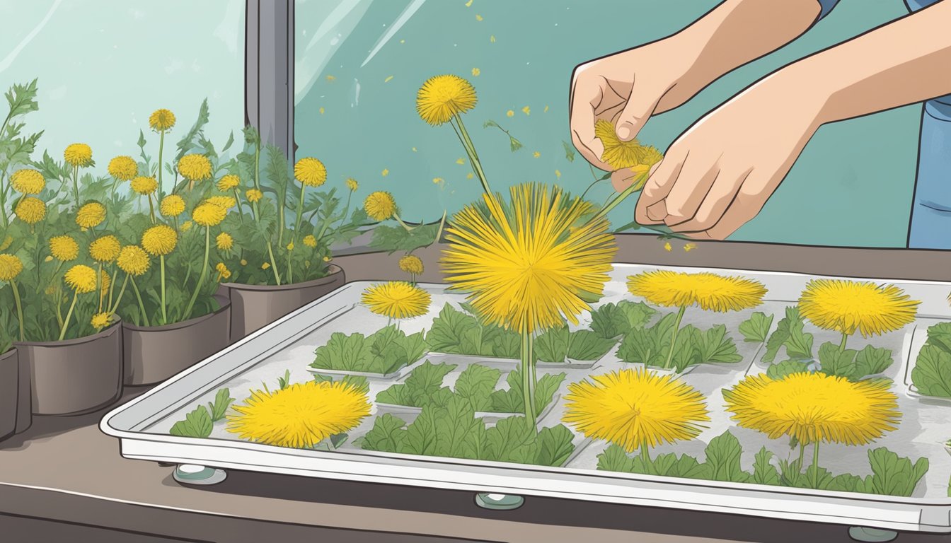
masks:
<instances>
[{"instance_id":1,"label":"green leaf clump at tray's front edge, around tall dandelion's stem base","mask_svg":"<svg viewBox=\"0 0 951 543\"><path fill-rule=\"evenodd\" d=\"M486 427L465 398L422 408L410 424L386 414L364 436L363 449L406 455L447 456L498 462L560 466L571 456L573 434L564 425L535 429L523 417Z\"/></svg>"}]
</instances>

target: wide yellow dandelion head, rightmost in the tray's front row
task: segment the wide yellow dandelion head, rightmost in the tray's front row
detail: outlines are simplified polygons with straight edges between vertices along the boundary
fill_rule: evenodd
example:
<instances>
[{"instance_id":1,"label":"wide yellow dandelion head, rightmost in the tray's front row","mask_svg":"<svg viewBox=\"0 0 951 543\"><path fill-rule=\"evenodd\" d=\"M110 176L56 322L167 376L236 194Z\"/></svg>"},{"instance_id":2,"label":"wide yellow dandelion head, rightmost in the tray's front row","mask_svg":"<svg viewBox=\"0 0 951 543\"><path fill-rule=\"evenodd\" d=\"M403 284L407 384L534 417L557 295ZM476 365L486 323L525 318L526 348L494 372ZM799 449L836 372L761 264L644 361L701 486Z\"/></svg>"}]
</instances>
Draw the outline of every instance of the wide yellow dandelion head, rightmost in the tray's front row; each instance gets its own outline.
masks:
<instances>
[{"instance_id":1,"label":"wide yellow dandelion head, rightmost in the tray's front row","mask_svg":"<svg viewBox=\"0 0 951 543\"><path fill-rule=\"evenodd\" d=\"M824 373L802 372L773 379L748 376L724 390L727 410L743 428L819 441L865 445L895 430L901 412L890 381L850 381Z\"/></svg>"}]
</instances>

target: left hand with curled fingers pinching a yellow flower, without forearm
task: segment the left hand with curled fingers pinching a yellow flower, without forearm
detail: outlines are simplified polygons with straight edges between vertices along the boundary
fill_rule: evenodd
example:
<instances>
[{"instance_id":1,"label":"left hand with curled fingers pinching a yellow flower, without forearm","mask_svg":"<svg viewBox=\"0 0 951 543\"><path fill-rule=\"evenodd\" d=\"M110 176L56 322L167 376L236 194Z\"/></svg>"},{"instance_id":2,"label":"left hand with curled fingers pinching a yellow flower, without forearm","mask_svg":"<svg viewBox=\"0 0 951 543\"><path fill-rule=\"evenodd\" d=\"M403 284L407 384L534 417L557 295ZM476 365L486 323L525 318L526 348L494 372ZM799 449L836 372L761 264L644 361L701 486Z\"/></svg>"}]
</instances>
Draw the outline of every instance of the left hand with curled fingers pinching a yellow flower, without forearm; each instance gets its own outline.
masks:
<instances>
[{"instance_id":1,"label":"left hand with curled fingers pinching a yellow flower, without forearm","mask_svg":"<svg viewBox=\"0 0 951 543\"><path fill-rule=\"evenodd\" d=\"M574 68L569 108L572 142L588 162L613 169L601 160L604 145L594 137L596 121L611 122L617 137L628 142L650 115L680 106L703 87L685 66L692 58L685 41L674 34ZM631 175L625 179L626 169L612 176L618 190L631 184Z\"/></svg>"}]
</instances>

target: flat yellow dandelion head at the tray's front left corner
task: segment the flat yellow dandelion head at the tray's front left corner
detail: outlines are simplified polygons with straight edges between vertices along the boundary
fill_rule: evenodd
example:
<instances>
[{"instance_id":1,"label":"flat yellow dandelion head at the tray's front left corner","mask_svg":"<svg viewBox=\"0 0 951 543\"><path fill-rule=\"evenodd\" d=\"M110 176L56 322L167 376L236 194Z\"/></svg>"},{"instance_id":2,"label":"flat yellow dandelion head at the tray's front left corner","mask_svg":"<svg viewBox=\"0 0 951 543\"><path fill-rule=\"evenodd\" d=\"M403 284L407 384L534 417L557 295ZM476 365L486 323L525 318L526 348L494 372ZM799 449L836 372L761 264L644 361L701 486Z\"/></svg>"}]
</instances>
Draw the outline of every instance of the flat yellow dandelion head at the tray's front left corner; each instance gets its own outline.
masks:
<instances>
[{"instance_id":1,"label":"flat yellow dandelion head at the tray's front left corner","mask_svg":"<svg viewBox=\"0 0 951 543\"><path fill-rule=\"evenodd\" d=\"M308 381L255 391L233 409L237 415L227 417L228 432L266 445L311 448L356 427L370 415L370 401L348 383Z\"/></svg>"}]
</instances>

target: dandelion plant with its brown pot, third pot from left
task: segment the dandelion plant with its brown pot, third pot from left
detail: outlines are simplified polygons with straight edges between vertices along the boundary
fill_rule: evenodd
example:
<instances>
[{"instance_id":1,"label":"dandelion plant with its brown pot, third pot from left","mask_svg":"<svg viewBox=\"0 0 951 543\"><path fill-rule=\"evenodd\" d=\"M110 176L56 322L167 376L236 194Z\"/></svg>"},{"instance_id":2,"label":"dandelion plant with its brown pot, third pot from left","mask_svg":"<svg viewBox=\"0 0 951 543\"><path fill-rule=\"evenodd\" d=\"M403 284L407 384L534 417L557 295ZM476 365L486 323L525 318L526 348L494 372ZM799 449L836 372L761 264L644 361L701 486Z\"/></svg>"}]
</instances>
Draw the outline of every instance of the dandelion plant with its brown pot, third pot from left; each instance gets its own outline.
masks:
<instances>
[{"instance_id":1,"label":"dandelion plant with its brown pot, third pot from left","mask_svg":"<svg viewBox=\"0 0 951 543\"><path fill-rule=\"evenodd\" d=\"M161 159L153 164L146 139L140 137L142 162L126 171L137 170L128 188L139 206L124 220L124 245L115 262L129 385L165 380L230 343L231 303L217 290L219 281L231 274L223 260L231 256L234 243L222 223L237 202L217 194L214 180L226 177L231 163L204 138L206 119L203 103L199 121L178 144L174 167ZM175 116L158 109L149 125L159 133L162 157ZM110 164L127 158L116 157ZM159 181L163 169L172 180L166 189ZM118 172L110 173L123 181Z\"/></svg>"}]
</instances>

